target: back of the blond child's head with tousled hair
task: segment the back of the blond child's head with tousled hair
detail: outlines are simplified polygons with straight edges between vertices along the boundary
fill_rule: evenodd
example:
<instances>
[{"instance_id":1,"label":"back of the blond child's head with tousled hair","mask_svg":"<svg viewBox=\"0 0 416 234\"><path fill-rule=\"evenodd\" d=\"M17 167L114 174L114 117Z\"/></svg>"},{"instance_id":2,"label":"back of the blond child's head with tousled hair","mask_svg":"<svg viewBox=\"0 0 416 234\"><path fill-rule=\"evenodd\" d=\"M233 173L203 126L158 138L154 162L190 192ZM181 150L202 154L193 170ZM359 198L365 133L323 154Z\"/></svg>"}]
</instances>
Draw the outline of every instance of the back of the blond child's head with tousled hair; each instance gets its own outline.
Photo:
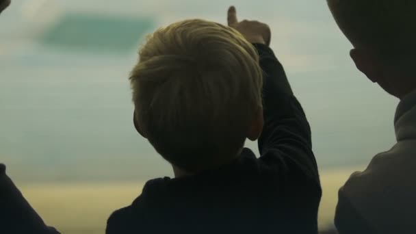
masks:
<instances>
[{"instance_id":1,"label":"back of the blond child's head with tousled hair","mask_svg":"<svg viewBox=\"0 0 416 234\"><path fill-rule=\"evenodd\" d=\"M187 172L235 157L262 107L255 48L234 29L187 20L148 37L131 73L135 121L156 151Z\"/></svg>"}]
</instances>

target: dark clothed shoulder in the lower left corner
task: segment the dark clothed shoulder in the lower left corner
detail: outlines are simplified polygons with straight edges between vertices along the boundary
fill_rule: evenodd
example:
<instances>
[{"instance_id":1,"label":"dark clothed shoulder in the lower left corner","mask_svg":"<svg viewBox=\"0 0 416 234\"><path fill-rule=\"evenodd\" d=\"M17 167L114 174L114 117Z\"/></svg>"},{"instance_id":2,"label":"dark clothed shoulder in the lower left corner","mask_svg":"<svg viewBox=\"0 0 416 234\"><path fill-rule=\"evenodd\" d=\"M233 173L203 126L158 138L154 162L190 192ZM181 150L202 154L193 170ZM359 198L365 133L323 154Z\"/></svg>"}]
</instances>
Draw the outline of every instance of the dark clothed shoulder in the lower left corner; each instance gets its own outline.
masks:
<instances>
[{"instance_id":1,"label":"dark clothed shoulder in the lower left corner","mask_svg":"<svg viewBox=\"0 0 416 234\"><path fill-rule=\"evenodd\" d=\"M0 233L59 234L44 224L0 164Z\"/></svg>"}]
</instances>

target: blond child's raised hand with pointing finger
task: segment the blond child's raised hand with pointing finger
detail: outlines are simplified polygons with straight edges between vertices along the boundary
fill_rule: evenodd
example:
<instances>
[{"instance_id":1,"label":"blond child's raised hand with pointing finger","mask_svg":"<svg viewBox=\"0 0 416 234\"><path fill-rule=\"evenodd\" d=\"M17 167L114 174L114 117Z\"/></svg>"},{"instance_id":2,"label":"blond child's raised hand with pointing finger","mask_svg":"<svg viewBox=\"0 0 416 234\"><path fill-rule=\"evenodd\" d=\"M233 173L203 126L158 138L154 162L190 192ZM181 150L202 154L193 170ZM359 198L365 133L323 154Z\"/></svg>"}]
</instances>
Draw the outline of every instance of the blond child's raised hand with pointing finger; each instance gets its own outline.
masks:
<instances>
[{"instance_id":1,"label":"blond child's raised hand with pointing finger","mask_svg":"<svg viewBox=\"0 0 416 234\"><path fill-rule=\"evenodd\" d=\"M228 23L229 27L233 27L240 34L248 40L250 43L262 43L270 45L270 39L272 37L272 32L270 27L265 23L259 21L241 21L237 20L237 12L235 7L231 6L228 12Z\"/></svg>"}]
</instances>

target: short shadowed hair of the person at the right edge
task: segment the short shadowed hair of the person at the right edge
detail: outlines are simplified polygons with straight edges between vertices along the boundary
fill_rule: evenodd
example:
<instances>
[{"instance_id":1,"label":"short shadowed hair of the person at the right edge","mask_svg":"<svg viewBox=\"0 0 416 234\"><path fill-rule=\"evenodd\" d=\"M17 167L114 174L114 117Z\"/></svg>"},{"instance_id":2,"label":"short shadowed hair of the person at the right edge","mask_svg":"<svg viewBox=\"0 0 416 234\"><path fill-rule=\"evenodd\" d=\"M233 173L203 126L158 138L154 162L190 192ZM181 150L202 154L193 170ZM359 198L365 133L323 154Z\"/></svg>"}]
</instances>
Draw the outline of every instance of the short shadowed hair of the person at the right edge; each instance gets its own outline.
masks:
<instances>
[{"instance_id":1,"label":"short shadowed hair of the person at the right edge","mask_svg":"<svg viewBox=\"0 0 416 234\"><path fill-rule=\"evenodd\" d=\"M387 55L415 52L415 0L327 0L341 31L356 48Z\"/></svg>"}]
</instances>

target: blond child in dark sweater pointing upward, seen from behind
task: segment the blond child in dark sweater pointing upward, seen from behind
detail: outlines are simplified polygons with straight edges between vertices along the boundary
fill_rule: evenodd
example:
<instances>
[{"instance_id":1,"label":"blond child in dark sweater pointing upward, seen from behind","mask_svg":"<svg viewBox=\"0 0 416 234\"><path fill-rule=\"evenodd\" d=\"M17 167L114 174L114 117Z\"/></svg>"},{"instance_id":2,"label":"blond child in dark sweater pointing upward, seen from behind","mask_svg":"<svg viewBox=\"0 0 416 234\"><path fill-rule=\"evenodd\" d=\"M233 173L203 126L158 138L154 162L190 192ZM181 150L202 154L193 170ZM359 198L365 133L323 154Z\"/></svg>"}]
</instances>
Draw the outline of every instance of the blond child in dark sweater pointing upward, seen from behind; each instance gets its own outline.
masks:
<instances>
[{"instance_id":1,"label":"blond child in dark sweater pointing upward, seen from behind","mask_svg":"<svg viewBox=\"0 0 416 234\"><path fill-rule=\"evenodd\" d=\"M268 47L270 29L239 23L235 8L229 25L181 21L140 50L135 127L175 178L148 181L112 214L108 234L317 233L311 130ZM258 159L246 138L259 140Z\"/></svg>"}]
</instances>

